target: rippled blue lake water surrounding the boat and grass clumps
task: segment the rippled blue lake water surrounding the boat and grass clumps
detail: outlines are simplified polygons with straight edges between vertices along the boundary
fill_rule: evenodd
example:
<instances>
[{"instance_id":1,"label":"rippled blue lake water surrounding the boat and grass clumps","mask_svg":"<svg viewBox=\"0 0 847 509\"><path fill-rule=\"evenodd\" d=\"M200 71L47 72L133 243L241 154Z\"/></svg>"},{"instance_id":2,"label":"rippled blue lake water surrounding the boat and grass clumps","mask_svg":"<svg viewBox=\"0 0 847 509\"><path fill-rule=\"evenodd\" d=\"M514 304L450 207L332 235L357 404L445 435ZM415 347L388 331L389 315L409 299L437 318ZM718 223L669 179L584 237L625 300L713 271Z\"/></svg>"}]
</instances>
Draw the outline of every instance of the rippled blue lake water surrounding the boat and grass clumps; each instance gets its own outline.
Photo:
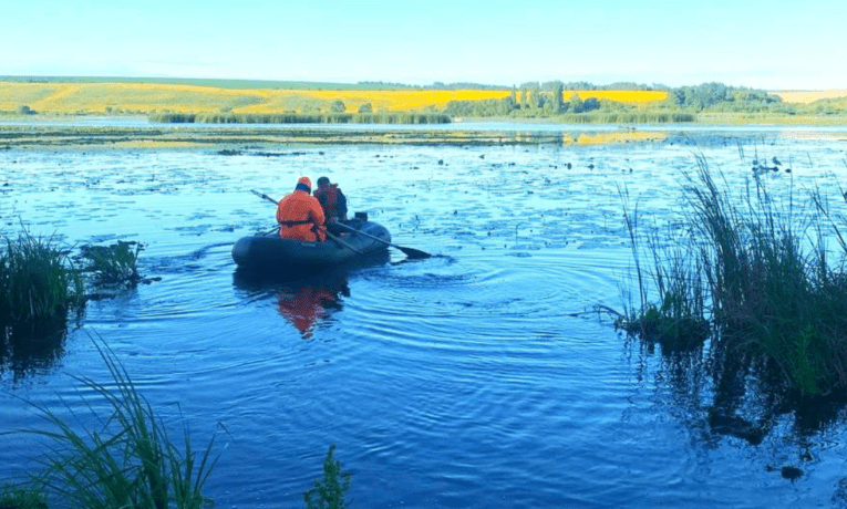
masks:
<instances>
[{"instance_id":1,"label":"rippled blue lake water surrounding the boat and grass clumps","mask_svg":"<svg viewBox=\"0 0 847 509\"><path fill-rule=\"evenodd\" d=\"M774 415L757 444L721 433L707 377L595 312L622 310L632 284L621 189L665 228L696 154L738 189L754 158L776 157L762 178L777 194L841 200L847 129L603 133L617 131L229 156L0 150L0 232L23 221L69 245L136 240L141 272L161 278L90 302L58 351L3 359L0 432L40 424L25 401L82 412L72 375L109 381L94 336L175 434L180 416L196 447L216 434L206 494L220 508L304 507L330 444L360 508L847 507L841 408ZM300 175L329 176L395 243L436 256L242 278L233 243L273 226L250 190L278 198ZM0 434L0 479L20 479L38 450Z\"/></svg>"}]
</instances>

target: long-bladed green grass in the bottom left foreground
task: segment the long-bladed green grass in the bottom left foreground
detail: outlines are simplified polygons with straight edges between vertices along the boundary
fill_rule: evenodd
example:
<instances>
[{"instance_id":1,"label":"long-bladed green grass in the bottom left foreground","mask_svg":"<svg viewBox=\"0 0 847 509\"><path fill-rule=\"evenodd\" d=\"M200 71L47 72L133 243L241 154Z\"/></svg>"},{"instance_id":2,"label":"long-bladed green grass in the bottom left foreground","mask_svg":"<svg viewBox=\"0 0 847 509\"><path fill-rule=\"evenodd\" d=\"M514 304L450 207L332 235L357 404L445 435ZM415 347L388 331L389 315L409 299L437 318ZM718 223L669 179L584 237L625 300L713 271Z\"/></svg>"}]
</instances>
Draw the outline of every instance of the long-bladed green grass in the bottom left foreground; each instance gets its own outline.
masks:
<instances>
[{"instance_id":1,"label":"long-bladed green grass in the bottom left foreground","mask_svg":"<svg viewBox=\"0 0 847 509\"><path fill-rule=\"evenodd\" d=\"M85 394L107 404L107 415L96 415L97 403L81 393L100 423L97 429L78 432L50 409L37 406L50 427L34 433L52 442L52 453L41 460L40 482L45 492L71 507L89 509L137 508L200 509L210 505L203 496L216 460L214 439L198 457L187 428L182 447L171 442L162 420L138 394L124 367L107 347L97 345L112 375L110 384L76 378ZM173 503L173 506L172 506Z\"/></svg>"}]
</instances>

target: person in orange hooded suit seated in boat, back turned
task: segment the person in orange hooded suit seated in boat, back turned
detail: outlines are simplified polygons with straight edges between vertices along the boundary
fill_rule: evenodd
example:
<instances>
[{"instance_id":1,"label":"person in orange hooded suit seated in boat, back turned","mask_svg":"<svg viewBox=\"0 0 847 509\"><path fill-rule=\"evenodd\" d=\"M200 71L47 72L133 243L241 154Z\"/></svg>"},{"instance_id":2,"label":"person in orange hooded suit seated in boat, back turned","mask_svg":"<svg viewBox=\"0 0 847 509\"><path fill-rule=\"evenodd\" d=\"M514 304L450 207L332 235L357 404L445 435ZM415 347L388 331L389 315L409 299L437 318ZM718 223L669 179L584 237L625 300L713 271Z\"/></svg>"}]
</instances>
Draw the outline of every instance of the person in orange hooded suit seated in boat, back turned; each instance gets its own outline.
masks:
<instances>
[{"instance_id":1,"label":"person in orange hooded suit seated in boat, back turned","mask_svg":"<svg viewBox=\"0 0 847 509\"><path fill-rule=\"evenodd\" d=\"M327 238L321 204L312 197L312 181L300 177L295 191L279 200L277 222L279 236L283 239L297 239L322 242Z\"/></svg>"}]
</instances>

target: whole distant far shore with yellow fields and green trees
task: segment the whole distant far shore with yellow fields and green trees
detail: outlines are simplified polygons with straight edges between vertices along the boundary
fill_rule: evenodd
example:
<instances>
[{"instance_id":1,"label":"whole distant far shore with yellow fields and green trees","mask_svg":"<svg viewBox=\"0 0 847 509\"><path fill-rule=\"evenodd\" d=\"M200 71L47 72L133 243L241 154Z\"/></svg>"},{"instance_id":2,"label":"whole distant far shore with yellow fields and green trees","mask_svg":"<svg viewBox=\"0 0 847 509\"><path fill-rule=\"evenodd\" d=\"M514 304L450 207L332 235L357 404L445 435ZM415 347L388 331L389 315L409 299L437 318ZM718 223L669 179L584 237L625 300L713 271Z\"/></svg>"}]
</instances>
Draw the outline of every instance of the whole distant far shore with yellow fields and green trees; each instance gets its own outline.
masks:
<instances>
[{"instance_id":1,"label":"whole distant far shore with yellow fields and green trees","mask_svg":"<svg viewBox=\"0 0 847 509\"><path fill-rule=\"evenodd\" d=\"M847 98L703 83L667 87L559 81L496 87L221 80L0 80L6 115L145 115L154 122L443 123L540 118L557 123L831 123ZM786 97L786 98L783 98ZM814 97L818 97L817 95ZM789 101L791 100L791 101Z\"/></svg>"}]
</instances>

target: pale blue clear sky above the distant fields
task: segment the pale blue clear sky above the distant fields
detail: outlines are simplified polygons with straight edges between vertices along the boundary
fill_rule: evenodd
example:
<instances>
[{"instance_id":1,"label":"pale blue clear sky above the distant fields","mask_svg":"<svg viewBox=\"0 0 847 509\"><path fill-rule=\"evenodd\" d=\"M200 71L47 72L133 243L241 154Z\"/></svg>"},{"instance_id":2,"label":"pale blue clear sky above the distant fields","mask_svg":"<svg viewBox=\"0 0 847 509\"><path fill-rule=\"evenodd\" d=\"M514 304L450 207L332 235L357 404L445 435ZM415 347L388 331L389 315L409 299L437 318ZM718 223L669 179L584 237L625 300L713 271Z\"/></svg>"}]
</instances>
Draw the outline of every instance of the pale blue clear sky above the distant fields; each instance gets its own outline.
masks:
<instances>
[{"instance_id":1,"label":"pale blue clear sky above the distant fields","mask_svg":"<svg viewBox=\"0 0 847 509\"><path fill-rule=\"evenodd\" d=\"M847 89L844 0L0 0L0 75Z\"/></svg>"}]
</instances>

